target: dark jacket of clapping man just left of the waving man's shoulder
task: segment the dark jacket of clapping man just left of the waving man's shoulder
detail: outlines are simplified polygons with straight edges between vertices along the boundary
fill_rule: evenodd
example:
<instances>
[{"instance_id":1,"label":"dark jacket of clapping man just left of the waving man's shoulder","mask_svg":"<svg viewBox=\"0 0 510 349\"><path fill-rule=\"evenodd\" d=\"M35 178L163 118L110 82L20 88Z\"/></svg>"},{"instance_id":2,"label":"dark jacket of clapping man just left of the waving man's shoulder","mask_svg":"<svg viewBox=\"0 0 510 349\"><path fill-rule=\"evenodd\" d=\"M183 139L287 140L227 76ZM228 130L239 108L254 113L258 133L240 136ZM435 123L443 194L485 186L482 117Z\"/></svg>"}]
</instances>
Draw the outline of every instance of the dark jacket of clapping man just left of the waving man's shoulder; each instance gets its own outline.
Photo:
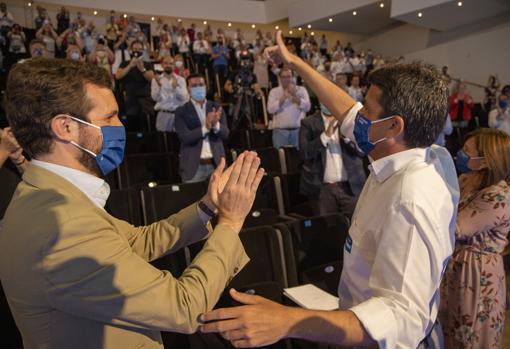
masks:
<instances>
[{"instance_id":1,"label":"dark jacket of clapping man just left of the waving man's shoulder","mask_svg":"<svg viewBox=\"0 0 510 349\"><path fill-rule=\"evenodd\" d=\"M322 144L324 121L321 113L315 113L301 120L299 129L299 152L304 161L299 191L310 198L320 193L326 169L326 147ZM363 153L349 139L341 137L342 160L347 171L351 190L358 196L365 185L366 173L363 167Z\"/></svg>"}]
</instances>

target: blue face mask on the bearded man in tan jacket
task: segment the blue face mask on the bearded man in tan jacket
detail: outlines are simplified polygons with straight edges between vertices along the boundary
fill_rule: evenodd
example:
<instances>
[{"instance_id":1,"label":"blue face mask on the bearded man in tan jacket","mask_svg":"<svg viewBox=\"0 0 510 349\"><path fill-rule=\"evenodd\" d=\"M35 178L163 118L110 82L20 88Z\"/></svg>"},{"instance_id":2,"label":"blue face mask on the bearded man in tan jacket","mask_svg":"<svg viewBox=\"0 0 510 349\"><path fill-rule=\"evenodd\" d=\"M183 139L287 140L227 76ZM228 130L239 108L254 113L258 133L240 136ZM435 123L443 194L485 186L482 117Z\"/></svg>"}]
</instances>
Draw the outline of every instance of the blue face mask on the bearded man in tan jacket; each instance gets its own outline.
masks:
<instances>
[{"instance_id":1,"label":"blue face mask on the bearded man in tan jacket","mask_svg":"<svg viewBox=\"0 0 510 349\"><path fill-rule=\"evenodd\" d=\"M122 160L124 160L124 148L126 147L126 131L124 126L100 127L73 116L70 116L70 118L84 125L101 130L101 135L103 137L103 145L99 154L95 154L91 150L85 149L76 142L71 141L71 144L92 155L96 159L99 169L105 176L119 167Z\"/></svg>"}]
</instances>

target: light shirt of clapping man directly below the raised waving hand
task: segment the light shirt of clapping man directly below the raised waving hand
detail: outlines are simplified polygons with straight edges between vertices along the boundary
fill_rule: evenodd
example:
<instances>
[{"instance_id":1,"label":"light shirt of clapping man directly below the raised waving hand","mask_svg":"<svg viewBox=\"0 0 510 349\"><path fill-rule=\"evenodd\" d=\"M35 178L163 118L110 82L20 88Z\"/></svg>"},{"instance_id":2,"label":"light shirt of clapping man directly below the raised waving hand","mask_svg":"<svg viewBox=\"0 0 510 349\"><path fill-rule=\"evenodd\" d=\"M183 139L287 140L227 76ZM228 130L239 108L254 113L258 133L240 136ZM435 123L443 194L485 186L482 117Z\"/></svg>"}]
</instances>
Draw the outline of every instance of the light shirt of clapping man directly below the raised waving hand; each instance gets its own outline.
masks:
<instances>
[{"instance_id":1,"label":"light shirt of clapping man directly below the raised waving hand","mask_svg":"<svg viewBox=\"0 0 510 349\"><path fill-rule=\"evenodd\" d=\"M310 110L310 97L303 86L296 86L296 95L299 97L299 105L286 99L280 105L284 91L281 86L273 88L267 99L267 111L273 114L272 128L299 128L301 120Z\"/></svg>"}]
</instances>

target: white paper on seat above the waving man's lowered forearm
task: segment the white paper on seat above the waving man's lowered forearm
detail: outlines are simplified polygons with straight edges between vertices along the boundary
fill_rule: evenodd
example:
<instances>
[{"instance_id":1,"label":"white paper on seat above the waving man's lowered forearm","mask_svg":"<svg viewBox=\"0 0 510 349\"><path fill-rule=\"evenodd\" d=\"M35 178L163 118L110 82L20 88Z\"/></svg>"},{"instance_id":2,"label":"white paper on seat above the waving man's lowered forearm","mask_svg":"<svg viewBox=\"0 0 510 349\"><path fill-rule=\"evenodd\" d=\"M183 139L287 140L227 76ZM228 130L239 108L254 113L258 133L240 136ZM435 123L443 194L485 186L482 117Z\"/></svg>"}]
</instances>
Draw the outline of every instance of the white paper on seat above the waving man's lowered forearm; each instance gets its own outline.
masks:
<instances>
[{"instance_id":1,"label":"white paper on seat above the waving man's lowered forearm","mask_svg":"<svg viewBox=\"0 0 510 349\"><path fill-rule=\"evenodd\" d=\"M338 297L321 290L312 284L285 288L283 294L306 309L337 310Z\"/></svg>"}]
</instances>

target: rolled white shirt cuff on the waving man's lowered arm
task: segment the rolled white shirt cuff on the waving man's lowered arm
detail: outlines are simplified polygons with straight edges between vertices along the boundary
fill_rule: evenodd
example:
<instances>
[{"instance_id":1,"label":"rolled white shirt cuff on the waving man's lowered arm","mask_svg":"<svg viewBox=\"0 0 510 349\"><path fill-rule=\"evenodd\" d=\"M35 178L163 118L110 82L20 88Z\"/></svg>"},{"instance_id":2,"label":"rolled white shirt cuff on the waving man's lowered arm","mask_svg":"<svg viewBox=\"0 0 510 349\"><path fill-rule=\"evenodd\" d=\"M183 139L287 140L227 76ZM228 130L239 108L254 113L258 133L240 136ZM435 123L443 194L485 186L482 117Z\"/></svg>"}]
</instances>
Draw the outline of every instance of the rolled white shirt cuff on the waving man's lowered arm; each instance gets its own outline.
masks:
<instances>
[{"instance_id":1,"label":"rolled white shirt cuff on the waving man's lowered arm","mask_svg":"<svg viewBox=\"0 0 510 349\"><path fill-rule=\"evenodd\" d=\"M372 297L349 310L356 315L379 348L396 347L397 321L391 309L381 299Z\"/></svg>"}]
</instances>

